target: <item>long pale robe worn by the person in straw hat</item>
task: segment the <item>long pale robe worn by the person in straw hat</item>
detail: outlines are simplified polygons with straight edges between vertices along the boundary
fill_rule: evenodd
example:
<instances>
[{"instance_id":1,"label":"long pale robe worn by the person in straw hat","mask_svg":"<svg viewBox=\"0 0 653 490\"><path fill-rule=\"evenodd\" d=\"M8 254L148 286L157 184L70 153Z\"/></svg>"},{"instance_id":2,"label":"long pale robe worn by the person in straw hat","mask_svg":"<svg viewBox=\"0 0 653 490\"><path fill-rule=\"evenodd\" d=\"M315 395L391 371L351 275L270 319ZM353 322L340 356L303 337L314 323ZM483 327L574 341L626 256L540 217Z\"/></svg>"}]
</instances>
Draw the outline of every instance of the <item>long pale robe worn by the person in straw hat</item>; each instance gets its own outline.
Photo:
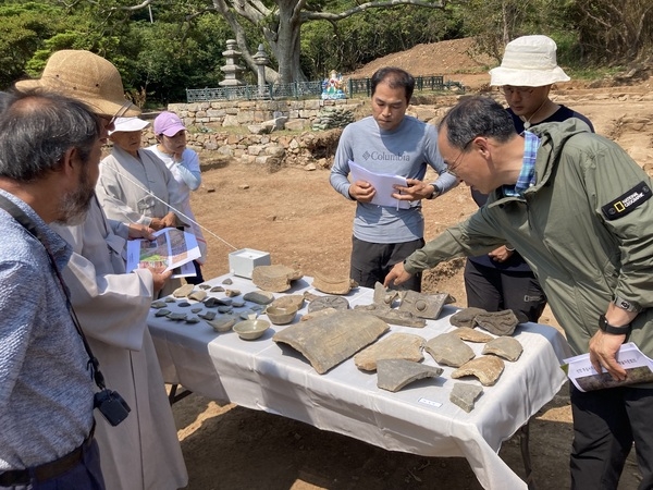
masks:
<instances>
[{"instance_id":1,"label":"long pale robe worn by the person in straw hat","mask_svg":"<svg viewBox=\"0 0 653 490\"><path fill-rule=\"evenodd\" d=\"M151 273L146 269L125 273L127 228L108 221L95 198L84 224L52 228L75 250L63 278L107 388L118 391L132 408L116 427L96 412L107 489L185 487L186 465L147 327Z\"/></svg>"}]
</instances>

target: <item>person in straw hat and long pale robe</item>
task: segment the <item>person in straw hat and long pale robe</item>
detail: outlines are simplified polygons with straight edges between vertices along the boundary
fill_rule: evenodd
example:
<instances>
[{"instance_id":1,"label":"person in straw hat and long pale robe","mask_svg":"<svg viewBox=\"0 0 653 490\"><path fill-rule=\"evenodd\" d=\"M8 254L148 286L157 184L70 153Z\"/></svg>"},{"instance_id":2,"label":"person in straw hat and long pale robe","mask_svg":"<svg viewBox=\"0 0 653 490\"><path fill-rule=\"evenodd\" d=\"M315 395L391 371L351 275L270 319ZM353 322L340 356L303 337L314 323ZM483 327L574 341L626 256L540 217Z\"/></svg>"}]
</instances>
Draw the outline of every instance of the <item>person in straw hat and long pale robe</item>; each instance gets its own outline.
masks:
<instances>
[{"instance_id":1,"label":"person in straw hat and long pale robe","mask_svg":"<svg viewBox=\"0 0 653 490\"><path fill-rule=\"evenodd\" d=\"M103 138L113 128L114 118L140 113L125 99L115 66L89 51L54 52L39 79L19 82L16 87L38 87L87 103L104 122ZM186 486L186 467L147 328L150 303L170 272L138 269L125 273L123 259L126 240L148 236L151 230L108 220L97 198L84 224L54 229L75 250L63 277L82 328L108 383L132 407L118 427L97 421L107 488Z\"/></svg>"}]
</instances>

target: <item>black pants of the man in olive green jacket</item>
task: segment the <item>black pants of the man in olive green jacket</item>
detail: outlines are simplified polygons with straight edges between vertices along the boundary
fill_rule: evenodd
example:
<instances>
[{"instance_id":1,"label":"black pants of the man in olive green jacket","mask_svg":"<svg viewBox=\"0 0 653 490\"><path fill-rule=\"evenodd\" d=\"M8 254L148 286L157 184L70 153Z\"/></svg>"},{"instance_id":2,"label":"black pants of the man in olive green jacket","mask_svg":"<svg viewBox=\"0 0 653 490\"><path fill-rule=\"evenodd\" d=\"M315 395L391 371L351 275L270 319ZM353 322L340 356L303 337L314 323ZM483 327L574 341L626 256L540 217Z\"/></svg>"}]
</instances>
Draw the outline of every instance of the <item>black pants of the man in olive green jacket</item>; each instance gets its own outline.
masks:
<instances>
[{"instance_id":1,"label":"black pants of the man in olive green jacket","mask_svg":"<svg viewBox=\"0 0 653 490\"><path fill-rule=\"evenodd\" d=\"M571 411L572 490L616 490L633 442L643 476L638 488L653 489L653 389L583 393L571 385Z\"/></svg>"}]
</instances>

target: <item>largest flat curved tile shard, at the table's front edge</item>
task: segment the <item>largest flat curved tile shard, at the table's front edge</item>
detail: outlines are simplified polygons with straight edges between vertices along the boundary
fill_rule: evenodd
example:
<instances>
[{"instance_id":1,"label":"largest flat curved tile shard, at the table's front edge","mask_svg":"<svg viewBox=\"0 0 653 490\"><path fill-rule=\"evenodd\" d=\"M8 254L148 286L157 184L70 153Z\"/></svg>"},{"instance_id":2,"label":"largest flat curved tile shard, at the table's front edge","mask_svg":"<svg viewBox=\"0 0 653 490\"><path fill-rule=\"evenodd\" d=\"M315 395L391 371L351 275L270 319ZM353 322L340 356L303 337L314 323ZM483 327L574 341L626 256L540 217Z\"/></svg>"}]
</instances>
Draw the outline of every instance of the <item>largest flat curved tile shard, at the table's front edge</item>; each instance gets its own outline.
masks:
<instances>
[{"instance_id":1,"label":"largest flat curved tile shard, at the table's front edge","mask_svg":"<svg viewBox=\"0 0 653 490\"><path fill-rule=\"evenodd\" d=\"M272 340L299 351L319 375L352 357L385 333L383 320L361 311L337 311L321 318L291 324Z\"/></svg>"}]
</instances>

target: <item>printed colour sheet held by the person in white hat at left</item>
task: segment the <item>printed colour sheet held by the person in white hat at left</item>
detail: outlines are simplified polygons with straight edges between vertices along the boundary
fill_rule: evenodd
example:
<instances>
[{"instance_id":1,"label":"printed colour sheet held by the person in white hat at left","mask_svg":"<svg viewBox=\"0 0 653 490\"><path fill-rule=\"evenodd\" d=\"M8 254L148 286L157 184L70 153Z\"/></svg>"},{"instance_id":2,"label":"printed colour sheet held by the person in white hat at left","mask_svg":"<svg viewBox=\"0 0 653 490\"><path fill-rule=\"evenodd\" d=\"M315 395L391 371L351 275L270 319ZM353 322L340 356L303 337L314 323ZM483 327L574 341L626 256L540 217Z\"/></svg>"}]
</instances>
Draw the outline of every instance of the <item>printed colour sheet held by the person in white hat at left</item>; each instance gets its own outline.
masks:
<instances>
[{"instance_id":1,"label":"printed colour sheet held by the person in white hat at left","mask_svg":"<svg viewBox=\"0 0 653 490\"><path fill-rule=\"evenodd\" d=\"M127 272L138 268L164 267L176 271L174 278L196 275L193 260L199 258L201 253L197 238L193 233L187 233L176 228L164 228L153 233L155 240L130 240L127 242Z\"/></svg>"}]
</instances>

